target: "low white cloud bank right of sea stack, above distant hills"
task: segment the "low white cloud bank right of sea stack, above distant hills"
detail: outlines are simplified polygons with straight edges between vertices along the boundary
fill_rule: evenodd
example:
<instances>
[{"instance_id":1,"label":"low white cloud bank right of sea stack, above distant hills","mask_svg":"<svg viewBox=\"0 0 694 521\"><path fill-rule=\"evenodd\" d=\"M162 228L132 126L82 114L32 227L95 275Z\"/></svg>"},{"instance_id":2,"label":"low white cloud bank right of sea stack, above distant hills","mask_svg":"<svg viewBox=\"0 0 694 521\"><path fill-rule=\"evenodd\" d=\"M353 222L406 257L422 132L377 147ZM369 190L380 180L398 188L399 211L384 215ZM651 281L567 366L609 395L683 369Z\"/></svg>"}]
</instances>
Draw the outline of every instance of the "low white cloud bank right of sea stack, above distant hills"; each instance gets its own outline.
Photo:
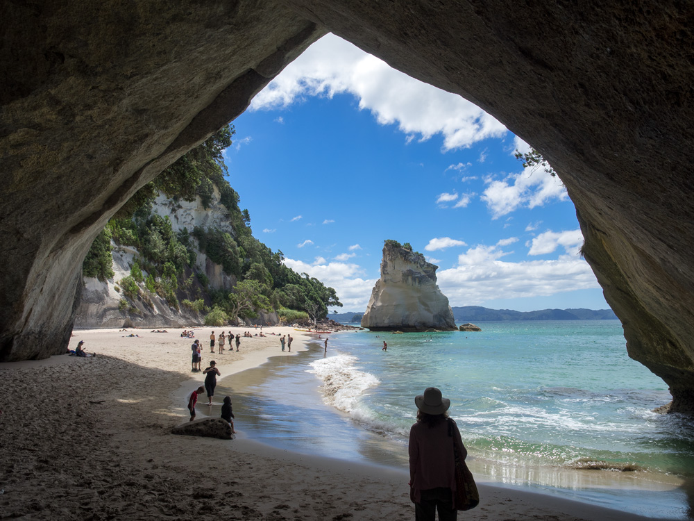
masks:
<instances>
[{"instance_id":1,"label":"low white cloud bank right of sea stack, above distant hills","mask_svg":"<svg viewBox=\"0 0 694 521\"><path fill-rule=\"evenodd\" d=\"M591 267L578 256L518 263L501 261L507 254L498 245L470 248L458 257L457 267L437 274L439 288L452 306L600 288Z\"/></svg>"}]
</instances>

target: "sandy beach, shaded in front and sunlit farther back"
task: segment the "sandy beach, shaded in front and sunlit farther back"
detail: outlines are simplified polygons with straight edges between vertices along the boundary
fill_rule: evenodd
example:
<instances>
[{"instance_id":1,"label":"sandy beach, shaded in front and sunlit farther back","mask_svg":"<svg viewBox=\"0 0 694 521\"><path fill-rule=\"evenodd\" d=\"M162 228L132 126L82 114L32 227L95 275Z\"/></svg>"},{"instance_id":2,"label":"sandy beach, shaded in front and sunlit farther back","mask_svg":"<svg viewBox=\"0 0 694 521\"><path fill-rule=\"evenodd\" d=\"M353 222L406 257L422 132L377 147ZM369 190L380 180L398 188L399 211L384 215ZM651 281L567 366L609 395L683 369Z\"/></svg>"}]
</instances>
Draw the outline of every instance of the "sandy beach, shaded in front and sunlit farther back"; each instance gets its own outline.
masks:
<instances>
[{"instance_id":1,"label":"sandy beach, shaded in front and sunlit farther back","mask_svg":"<svg viewBox=\"0 0 694 521\"><path fill-rule=\"evenodd\" d=\"M238 353L212 354L212 330L219 333L195 329L202 367L214 360L223 377L291 356L268 333L291 333L294 353L310 340L271 327L265 338L242 338ZM185 395L203 381L191 372L192 341L180 331L74 331L70 348L84 340L96 356L0 364L0 518L414 519L404 468L274 449L245 436L242 425L236 440L171 435L188 419ZM197 410L203 417L205 406ZM480 495L480 506L459 519L652 519L484 483Z\"/></svg>"}]
</instances>

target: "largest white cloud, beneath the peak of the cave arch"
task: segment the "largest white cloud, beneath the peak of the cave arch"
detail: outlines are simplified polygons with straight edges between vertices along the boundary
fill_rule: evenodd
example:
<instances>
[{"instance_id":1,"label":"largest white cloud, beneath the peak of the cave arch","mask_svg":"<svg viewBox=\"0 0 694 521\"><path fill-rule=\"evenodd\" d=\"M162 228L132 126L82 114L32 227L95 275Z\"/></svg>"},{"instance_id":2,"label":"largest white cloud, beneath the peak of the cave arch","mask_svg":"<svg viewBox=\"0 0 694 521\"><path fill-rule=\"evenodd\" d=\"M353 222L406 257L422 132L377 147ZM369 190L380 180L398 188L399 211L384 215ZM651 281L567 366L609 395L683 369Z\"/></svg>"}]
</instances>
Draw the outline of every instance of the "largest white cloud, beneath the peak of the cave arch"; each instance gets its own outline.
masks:
<instances>
[{"instance_id":1,"label":"largest white cloud, beneath the peak of the cave arch","mask_svg":"<svg viewBox=\"0 0 694 521\"><path fill-rule=\"evenodd\" d=\"M251 102L251 110L285 108L307 96L353 94L379 124L398 124L413 139L443 135L443 149L469 147L506 128L471 102L396 71L335 35L325 35L287 65Z\"/></svg>"}]
</instances>

